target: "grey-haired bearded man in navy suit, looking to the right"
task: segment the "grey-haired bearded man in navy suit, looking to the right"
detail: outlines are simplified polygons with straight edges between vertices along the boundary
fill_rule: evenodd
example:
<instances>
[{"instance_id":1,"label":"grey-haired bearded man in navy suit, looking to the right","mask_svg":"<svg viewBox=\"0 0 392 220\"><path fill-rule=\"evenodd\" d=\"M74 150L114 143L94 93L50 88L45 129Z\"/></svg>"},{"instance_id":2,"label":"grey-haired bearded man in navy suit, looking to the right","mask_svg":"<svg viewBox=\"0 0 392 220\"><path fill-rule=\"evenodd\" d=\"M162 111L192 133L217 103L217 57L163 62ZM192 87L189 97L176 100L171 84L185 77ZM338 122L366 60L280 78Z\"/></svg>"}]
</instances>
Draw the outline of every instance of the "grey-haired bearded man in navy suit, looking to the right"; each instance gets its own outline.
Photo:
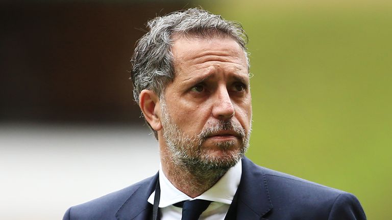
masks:
<instances>
[{"instance_id":1,"label":"grey-haired bearded man in navy suit, looking to the right","mask_svg":"<svg viewBox=\"0 0 392 220\"><path fill-rule=\"evenodd\" d=\"M71 207L64 219L366 219L353 195L243 157L252 107L239 24L188 9L148 26L132 80L159 143L159 173Z\"/></svg>"}]
</instances>

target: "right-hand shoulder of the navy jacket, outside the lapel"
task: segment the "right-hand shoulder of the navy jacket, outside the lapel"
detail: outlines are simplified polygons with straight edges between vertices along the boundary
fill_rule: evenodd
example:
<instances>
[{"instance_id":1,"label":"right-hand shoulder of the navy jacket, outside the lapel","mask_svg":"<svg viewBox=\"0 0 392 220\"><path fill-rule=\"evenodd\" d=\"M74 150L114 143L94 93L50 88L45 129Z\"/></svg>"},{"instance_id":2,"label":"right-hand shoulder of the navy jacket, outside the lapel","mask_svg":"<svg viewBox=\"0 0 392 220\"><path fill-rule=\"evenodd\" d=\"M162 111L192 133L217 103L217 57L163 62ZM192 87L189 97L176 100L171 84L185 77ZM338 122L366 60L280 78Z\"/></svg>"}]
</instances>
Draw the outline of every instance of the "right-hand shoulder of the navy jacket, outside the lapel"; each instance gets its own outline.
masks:
<instances>
[{"instance_id":1,"label":"right-hand shoulder of the navy jacket, outside the lapel","mask_svg":"<svg viewBox=\"0 0 392 220\"><path fill-rule=\"evenodd\" d=\"M258 179L265 182L273 205L272 214L281 219L366 219L358 199L346 191L263 168L250 160L244 163L253 176L260 174Z\"/></svg>"}]
</instances>

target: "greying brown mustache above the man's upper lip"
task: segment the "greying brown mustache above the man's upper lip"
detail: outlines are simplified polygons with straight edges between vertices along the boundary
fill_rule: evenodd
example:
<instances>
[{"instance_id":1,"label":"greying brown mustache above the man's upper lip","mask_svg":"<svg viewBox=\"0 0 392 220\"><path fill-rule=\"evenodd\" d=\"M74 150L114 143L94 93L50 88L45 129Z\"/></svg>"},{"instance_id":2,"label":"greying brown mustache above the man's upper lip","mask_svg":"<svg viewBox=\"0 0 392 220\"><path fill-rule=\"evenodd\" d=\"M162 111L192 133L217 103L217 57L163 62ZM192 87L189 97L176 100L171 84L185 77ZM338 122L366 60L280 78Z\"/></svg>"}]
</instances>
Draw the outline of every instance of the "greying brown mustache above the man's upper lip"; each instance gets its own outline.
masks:
<instances>
[{"instance_id":1,"label":"greying brown mustache above the man's upper lip","mask_svg":"<svg viewBox=\"0 0 392 220\"><path fill-rule=\"evenodd\" d=\"M242 139L246 135L245 129L243 129L242 126L233 123L232 120L229 120L218 121L217 123L212 124L211 126L203 129L198 136L200 140L206 140L209 136L216 135L218 134L218 132L221 131L233 132L234 135L239 137L240 139Z\"/></svg>"}]
</instances>

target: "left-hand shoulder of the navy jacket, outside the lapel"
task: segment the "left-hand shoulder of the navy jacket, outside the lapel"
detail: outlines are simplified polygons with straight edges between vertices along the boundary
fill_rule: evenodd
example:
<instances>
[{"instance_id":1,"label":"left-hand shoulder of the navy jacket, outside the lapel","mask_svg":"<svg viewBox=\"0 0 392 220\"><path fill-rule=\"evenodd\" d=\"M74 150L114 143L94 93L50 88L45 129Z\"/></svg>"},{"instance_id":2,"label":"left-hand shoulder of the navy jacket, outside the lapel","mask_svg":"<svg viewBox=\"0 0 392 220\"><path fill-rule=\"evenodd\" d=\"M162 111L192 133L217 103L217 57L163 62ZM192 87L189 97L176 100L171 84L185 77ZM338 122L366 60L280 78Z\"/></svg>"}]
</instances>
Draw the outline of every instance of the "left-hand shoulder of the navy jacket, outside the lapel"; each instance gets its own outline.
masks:
<instances>
[{"instance_id":1,"label":"left-hand shoulder of the navy jacket, outside the lapel","mask_svg":"<svg viewBox=\"0 0 392 220\"><path fill-rule=\"evenodd\" d=\"M154 176L144 179L124 189L114 191L113 193L80 205L72 206L66 211L63 220L116 219L115 213L122 205L124 205L139 188L149 186L155 178L156 177Z\"/></svg>"}]
</instances>

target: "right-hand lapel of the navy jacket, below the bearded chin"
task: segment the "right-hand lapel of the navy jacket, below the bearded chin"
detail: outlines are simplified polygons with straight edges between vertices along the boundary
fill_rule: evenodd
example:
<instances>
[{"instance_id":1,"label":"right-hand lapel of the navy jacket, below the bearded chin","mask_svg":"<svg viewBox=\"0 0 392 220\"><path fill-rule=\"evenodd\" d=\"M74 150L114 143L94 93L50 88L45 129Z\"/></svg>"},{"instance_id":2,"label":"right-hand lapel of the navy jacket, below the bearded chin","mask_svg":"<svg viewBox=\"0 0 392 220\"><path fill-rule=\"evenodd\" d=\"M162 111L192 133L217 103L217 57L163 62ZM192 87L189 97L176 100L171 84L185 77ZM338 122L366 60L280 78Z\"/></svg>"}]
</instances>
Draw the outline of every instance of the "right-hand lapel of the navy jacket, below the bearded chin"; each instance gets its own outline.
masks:
<instances>
[{"instance_id":1,"label":"right-hand lapel of the navy jacket, below the bearded chin","mask_svg":"<svg viewBox=\"0 0 392 220\"><path fill-rule=\"evenodd\" d=\"M238 186L237 219L262 218L273 208L264 173L248 158L242 159L242 176Z\"/></svg>"}]
</instances>

